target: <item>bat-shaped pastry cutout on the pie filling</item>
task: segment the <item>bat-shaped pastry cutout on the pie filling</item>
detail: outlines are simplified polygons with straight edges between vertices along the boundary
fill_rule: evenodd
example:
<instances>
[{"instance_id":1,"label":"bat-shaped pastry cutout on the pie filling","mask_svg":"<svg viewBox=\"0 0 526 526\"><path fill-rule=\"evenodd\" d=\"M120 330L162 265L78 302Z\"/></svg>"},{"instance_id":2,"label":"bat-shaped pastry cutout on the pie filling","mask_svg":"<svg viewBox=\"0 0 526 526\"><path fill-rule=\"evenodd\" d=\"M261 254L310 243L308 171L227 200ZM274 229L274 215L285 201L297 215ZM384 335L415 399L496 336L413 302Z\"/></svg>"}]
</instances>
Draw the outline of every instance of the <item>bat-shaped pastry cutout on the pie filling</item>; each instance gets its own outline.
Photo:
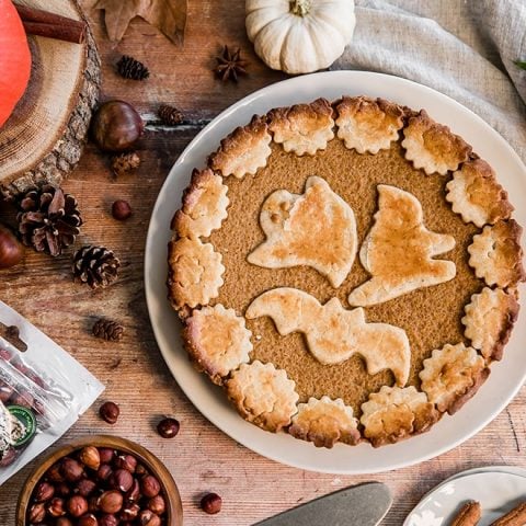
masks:
<instances>
[{"instance_id":1,"label":"bat-shaped pastry cutout on the pie filling","mask_svg":"<svg viewBox=\"0 0 526 526\"><path fill-rule=\"evenodd\" d=\"M296 288L275 288L250 304L248 319L268 316L282 336L302 332L312 355L322 364L340 364L354 354L367 373L391 369L397 385L409 378L411 351L405 331L388 323L367 323L364 309L345 310L338 298L321 305Z\"/></svg>"}]
</instances>

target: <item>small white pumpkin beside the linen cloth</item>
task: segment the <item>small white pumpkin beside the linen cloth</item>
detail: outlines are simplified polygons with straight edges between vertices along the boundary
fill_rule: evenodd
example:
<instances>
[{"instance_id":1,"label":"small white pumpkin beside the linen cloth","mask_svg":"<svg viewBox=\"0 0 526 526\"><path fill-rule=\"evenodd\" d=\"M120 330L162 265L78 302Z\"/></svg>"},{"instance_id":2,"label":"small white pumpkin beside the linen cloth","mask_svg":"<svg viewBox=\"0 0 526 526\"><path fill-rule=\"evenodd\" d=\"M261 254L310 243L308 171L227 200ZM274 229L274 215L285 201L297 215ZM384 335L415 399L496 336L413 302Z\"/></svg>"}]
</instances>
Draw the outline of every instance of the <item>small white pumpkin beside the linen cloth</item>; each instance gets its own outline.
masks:
<instances>
[{"instance_id":1,"label":"small white pumpkin beside the linen cloth","mask_svg":"<svg viewBox=\"0 0 526 526\"><path fill-rule=\"evenodd\" d=\"M272 69L329 67L353 36L354 0L247 0L247 33Z\"/></svg>"}]
</instances>

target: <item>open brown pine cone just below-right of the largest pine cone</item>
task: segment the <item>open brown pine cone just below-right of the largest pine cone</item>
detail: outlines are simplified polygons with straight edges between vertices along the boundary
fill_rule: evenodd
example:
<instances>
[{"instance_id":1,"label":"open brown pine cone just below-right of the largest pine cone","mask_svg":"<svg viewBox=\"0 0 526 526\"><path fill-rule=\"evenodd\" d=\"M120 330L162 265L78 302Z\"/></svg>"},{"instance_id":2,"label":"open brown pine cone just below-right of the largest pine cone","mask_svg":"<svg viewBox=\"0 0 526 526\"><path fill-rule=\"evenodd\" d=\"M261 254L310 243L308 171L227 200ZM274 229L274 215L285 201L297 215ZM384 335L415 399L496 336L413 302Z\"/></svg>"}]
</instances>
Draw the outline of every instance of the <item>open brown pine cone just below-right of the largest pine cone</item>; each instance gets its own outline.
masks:
<instances>
[{"instance_id":1,"label":"open brown pine cone just below-right of the largest pine cone","mask_svg":"<svg viewBox=\"0 0 526 526\"><path fill-rule=\"evenodd\" d=\"M91 288L106 287L118 277L121 262L104 247L87 245L73 255L73 279Z\"/></svg>"}]
</instances>

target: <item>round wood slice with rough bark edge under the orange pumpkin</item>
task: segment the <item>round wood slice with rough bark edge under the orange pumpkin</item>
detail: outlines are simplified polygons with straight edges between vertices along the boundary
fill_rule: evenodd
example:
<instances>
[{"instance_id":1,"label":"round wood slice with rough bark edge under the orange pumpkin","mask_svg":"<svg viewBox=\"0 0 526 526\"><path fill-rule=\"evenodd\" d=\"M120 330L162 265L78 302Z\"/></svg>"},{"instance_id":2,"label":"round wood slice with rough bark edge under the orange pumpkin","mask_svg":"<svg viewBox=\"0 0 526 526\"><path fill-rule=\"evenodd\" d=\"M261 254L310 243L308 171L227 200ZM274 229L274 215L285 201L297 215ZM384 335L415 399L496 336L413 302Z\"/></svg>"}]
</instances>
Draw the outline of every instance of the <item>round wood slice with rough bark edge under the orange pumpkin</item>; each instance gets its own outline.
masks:
<instances>
[{"instance_id":1,"label":"round wood slice with rough bark edge under the orange pumpkin","mask_svg":"<svg viewBox=\"0 0 526 526\"><path fill-rule=\"evenodd\" d=\"M20 3L85 20L76 0L20 0ZM80 45L41 38L30 37L33 56L30 87L0 129L0 192L7 197L43 183L60 184L80 159L99 100L101 62L91 30L88 27L85 43ZM81 46L80 53L78 47L70 46ZM62 60L56 70L55 57ZM72 57L72 64L67 57ZM61 69L64 61L68 65L66 73ZM64 90L66 83L68 92ZM44 104L49 111L42 107Z\"/></svg>"}]
</instances>

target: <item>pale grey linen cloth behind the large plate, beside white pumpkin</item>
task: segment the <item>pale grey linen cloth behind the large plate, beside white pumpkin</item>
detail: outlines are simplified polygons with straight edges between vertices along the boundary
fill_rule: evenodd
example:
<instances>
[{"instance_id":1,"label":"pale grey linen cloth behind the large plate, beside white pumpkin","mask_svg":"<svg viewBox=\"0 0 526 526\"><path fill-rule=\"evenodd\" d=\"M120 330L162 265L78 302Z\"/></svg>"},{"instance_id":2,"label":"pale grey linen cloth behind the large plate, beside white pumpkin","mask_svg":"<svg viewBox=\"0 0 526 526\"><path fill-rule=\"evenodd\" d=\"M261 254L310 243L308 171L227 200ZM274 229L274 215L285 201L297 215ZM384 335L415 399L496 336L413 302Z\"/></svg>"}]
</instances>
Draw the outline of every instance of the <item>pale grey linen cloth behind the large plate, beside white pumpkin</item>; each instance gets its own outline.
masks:
<instances>
[{"instance_id":1,"label":"pale grey linen cloth behind the large plate, beside white pumpkin","mask_svg":"<svg viewBox=\"0 0 526 526\"><path fill-rule=\"evenodd\" d=\"M526 163L526 0L356 0L353 41L331 69L396 75L451 96Z\"/></svg>"}]
</instances>

